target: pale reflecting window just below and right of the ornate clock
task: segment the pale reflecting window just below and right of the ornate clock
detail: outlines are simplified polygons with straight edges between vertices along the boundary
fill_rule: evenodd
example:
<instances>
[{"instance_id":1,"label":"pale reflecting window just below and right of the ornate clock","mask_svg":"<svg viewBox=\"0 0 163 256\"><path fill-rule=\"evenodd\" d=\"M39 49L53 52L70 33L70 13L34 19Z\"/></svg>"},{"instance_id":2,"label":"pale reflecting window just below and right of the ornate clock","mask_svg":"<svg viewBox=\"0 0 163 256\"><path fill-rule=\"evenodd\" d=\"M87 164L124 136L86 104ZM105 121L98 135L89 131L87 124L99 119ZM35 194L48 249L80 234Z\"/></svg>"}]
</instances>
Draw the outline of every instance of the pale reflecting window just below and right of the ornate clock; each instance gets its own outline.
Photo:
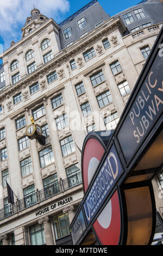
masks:
<instances>
[{"instance_id":1,"label":"pale reflecting window just below and right of the ornate clock","mask_svg":"<svg viewBox=\"0 0 163 256\"><path fill-rule=\"evenodd\" d=\"M48 148L39 151L39 159L41 168L47 166L50 163L53 163L54 155L52 146L49 146Z\"/></svg>"}]
</instances>

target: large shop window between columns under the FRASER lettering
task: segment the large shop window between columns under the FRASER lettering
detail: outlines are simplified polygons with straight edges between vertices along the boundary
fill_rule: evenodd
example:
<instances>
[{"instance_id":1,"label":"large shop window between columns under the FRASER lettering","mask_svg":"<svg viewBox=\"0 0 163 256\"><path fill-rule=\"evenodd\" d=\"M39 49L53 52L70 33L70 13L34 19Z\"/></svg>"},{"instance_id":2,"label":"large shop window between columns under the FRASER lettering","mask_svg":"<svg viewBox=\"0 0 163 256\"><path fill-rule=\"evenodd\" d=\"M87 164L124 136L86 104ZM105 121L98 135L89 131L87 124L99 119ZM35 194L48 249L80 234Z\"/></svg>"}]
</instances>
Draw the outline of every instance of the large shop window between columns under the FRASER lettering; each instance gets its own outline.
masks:
<instances>
[{"instance_id":1,"label":"large shop window between columns under the FRASER lettering","mask_svg":"<svg viewBox=\"0 0 163 256\"><path fill-rule=\"evenodd\" d=\"M70 234L70 221L68 218L68 214L56 215L54 216L53 221L56 239Z\"/></svg>"}]
</instances>

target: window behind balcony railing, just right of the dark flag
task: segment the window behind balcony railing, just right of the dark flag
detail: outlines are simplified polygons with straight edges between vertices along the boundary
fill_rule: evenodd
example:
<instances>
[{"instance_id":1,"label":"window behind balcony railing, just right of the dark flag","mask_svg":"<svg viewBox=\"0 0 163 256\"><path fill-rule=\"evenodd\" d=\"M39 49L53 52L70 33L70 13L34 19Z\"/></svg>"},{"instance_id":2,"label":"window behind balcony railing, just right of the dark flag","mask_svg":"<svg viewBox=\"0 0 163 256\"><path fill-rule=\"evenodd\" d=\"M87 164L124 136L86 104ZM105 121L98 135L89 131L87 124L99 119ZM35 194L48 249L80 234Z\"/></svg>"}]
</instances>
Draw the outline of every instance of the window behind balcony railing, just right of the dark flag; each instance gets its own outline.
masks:
<instances>
[{"instance_id":1,"label":"window behind balcony railing, just right of the dark flag","mask_svg":"<svg viewBox=\"0 0 163 256\"><path fill-rule=\"evenodd\" d=\"M34 203L37 202L36 192L35 192L35 185L34 184L29 186L29 187L24 188L23 193L24 193L25 207L33 205Z\"/></svg>"}]
</instances>

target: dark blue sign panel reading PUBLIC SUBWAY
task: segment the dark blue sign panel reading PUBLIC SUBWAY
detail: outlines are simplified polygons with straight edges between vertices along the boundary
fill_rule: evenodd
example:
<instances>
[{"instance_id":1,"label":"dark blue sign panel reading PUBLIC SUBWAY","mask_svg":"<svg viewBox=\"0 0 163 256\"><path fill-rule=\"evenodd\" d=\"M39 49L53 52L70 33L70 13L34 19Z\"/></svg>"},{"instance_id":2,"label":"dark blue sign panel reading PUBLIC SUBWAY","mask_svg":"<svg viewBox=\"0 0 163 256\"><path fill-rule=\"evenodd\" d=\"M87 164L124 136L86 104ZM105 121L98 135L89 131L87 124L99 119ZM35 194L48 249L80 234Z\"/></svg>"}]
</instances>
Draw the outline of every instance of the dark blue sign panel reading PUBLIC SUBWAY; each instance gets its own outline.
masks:
<instances>
[{"instance_id":1,"label":"dark blue sign panel reading PUBLIC SUBWAY","mask_svg":"<svg viewBox=\"0 0 163 256\"><path fill-rule=\"evenodd\" d=\"M162 114L162 59L163 50L160 49L149 68L147 76L141 81L139 93L131 104L127 117L124 119L123 125L118 132L117 138L126 162L129 162L135 155L149 131L153 128L156 120Z\"/></svg>"}]
</instances>

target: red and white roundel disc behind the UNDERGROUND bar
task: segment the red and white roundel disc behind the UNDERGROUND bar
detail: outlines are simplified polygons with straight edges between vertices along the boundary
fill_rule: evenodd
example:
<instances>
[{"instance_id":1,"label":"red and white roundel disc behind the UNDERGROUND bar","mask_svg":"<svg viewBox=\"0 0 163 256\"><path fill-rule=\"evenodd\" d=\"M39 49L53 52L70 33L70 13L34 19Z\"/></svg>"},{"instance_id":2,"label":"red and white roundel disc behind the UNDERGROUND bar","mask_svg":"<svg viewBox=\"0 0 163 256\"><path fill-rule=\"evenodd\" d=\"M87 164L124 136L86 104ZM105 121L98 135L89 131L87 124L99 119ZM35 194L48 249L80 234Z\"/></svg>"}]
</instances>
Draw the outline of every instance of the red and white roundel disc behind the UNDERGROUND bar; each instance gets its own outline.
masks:
<instances>
[{"instance_id":1,"label":"red and white roundel disc behind the UNDERGROUND bar","mask_svg":"<svg viewBox=\"0 0 163 256\"><path fill-rule=\"evenodd\" d=\"M96 173L99 162L102 160L110 137L108 136L108 140L106 141L105 139L104 141L100 133L94 133L94 136L90 134L86 139L82 156L85 192ZM121 233L121 215L117 191L115 191L95 223L93 223L93 229L102 245L118 245Z\"/></svg>"}]
</instances>

